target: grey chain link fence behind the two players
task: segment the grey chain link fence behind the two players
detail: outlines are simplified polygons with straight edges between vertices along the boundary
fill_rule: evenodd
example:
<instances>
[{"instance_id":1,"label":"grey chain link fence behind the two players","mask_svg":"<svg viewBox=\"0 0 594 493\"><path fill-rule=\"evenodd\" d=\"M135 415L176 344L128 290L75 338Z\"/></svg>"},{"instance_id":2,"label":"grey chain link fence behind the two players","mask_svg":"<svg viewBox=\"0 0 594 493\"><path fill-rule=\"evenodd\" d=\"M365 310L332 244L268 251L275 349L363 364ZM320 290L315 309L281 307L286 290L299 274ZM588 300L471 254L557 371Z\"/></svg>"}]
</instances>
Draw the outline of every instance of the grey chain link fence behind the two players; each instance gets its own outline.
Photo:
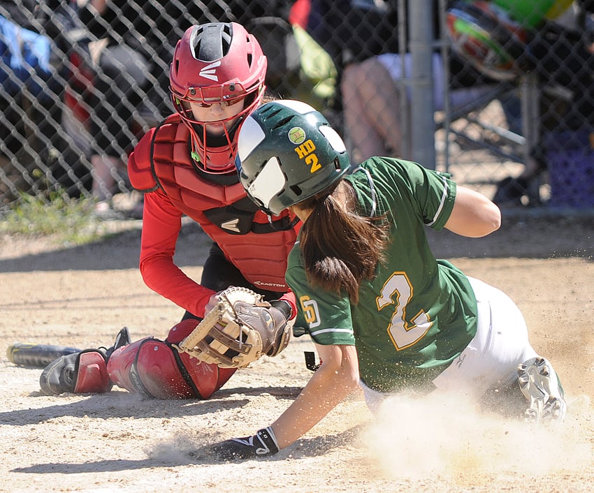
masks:
<instances>
[{"instance_id":1,"label":"grey chain link fence behind the two players","mask_svg":"<svg viewBox=\"0 0 594 493\"><path fill-rule=\"evenodd\" d=\"M175 43L236 21L268 56L268 89L324 112L354 163L434 156L501 205L593 207L590 3L0 1L0 22L25 29L0 26L1 205L129 192L126 156L172 112Z\"/></svg>"}]
</instances>

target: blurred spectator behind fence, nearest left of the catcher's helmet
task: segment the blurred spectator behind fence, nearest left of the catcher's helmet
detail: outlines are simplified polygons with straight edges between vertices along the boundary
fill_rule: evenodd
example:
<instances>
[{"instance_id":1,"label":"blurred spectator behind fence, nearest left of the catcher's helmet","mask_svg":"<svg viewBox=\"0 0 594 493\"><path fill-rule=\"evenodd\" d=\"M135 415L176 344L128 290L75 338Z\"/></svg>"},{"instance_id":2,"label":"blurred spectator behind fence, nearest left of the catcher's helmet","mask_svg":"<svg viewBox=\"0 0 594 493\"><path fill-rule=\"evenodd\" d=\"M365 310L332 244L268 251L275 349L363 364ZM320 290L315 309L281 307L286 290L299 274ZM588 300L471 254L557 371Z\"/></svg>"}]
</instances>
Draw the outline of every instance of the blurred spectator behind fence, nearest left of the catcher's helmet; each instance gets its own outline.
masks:
<instances>
[{"instance_id":1,"label":"blurred spectator behind fence, nearest left of the catcher's helmet","mask_svg":"<svg viewBox=\"0 0 594 493\"><path fill-rule=\"evenodd\" d=\"M80 6L79 16L88 35L88 44L82 44L88 50L85 63L94 75L85 101L92 108L92 192L96 213L110 216L110 199L140 130L134 118L145 96L150 55L131 29L139 13L129 1L89 0Z\"/></svg>"}]
</instances>

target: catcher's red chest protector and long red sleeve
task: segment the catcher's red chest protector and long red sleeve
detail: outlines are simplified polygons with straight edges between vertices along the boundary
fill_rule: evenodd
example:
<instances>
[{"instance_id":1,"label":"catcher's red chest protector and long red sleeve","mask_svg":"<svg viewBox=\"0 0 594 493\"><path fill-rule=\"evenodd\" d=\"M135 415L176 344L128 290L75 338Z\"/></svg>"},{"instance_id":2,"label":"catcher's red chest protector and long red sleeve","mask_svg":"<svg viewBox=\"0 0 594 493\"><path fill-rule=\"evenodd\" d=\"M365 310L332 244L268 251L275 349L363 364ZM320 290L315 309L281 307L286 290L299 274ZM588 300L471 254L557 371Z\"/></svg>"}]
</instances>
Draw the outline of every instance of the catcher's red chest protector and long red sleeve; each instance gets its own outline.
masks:
<instances>
[{"instance_id":1,"label":"catcher's red chest protector and long red sleeve","mask_svg":"<svg viewBox=\"0 0 594 493\"><path fill-rule=\"evenodd\" d=\"M152 128L129 158L131 184L145 193L140 247L145 283L178 306L203 316L212 291L191 281L173 263L185 214L217 242L247 281L263 290L286 292L287 256L298 230L294 216L284 213L270 224L266 214L247 198L235 173L205 175L198 170L189 142L187 127L178 115L172 115Z\"/></svg>"}]
</instances>

